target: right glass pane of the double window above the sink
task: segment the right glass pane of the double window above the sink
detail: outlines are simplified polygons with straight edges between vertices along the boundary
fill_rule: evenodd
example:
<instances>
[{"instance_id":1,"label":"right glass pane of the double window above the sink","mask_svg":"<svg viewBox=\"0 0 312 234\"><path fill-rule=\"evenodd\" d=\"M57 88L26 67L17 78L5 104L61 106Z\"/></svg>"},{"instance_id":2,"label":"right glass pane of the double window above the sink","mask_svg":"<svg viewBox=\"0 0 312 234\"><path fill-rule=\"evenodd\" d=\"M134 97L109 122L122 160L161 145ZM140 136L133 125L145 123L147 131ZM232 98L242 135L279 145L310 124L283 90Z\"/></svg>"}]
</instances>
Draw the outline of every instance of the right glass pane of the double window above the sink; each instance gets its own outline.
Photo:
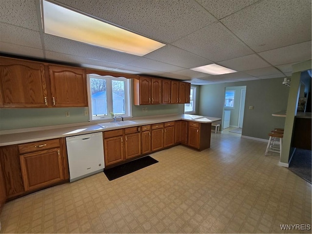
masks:
<instances>
[{"instance_id":1,"label":"right glass pane of the double window above the sink","mask_svg":"<svg viewBox=\"0 0 312 234\"><path fill-rule=\"evenodd\" d=\"M124 115L125 111L125 81L112 80L113 113Z\"/></svg>"}]
</instances>

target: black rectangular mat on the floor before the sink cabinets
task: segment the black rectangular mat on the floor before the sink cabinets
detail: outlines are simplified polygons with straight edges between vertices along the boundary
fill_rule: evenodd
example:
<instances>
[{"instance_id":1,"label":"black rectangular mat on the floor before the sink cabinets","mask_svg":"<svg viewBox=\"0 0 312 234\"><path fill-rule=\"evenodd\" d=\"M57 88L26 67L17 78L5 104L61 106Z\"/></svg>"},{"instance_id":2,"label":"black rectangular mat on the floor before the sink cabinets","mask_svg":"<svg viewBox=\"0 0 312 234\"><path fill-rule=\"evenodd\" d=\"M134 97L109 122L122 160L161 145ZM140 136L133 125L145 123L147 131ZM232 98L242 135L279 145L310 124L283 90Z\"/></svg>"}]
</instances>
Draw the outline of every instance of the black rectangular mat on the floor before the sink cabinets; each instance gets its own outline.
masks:
<instances>
[{"instance_id":1,"label":"black rectangular mat on the floor before the sink cabinets","mask_svg":"<svg viewBox=\"0 0 312 234\"><path fill-rule=\"evenodd\" d=\"M132 172L135 172L137 170L140 170L144 167L150 166L157 162L158 161L153 157L145 156L110 169L104 169L104 174L106 175L108 180L113 180L121 176L128 175Z\"/></svg>"}]
</instances>

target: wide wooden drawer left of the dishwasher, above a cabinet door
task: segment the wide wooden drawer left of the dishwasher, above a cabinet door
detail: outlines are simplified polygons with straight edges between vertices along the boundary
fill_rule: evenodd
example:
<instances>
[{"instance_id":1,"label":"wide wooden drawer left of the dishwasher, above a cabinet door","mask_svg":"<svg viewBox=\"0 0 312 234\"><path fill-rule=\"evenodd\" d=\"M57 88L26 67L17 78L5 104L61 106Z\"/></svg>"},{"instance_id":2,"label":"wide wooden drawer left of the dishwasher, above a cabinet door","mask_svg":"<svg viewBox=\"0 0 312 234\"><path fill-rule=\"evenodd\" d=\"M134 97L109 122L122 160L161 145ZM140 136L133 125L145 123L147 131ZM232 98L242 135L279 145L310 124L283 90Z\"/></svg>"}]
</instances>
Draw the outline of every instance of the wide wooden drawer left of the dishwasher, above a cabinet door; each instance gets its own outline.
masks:
<instances>
[{"instance_id":1,"label":"wide wooden drawer left of the dishwasher, above a cabinet door","mask_svg":"<svg viewBox=\"0 0 312 234\"><path fill-rule=\"evenodd\" d=\"M59 139L43 140L19 145L19 152L20 154L26 154L58 147L59 147Z\"/></svg>"}]
</instances>

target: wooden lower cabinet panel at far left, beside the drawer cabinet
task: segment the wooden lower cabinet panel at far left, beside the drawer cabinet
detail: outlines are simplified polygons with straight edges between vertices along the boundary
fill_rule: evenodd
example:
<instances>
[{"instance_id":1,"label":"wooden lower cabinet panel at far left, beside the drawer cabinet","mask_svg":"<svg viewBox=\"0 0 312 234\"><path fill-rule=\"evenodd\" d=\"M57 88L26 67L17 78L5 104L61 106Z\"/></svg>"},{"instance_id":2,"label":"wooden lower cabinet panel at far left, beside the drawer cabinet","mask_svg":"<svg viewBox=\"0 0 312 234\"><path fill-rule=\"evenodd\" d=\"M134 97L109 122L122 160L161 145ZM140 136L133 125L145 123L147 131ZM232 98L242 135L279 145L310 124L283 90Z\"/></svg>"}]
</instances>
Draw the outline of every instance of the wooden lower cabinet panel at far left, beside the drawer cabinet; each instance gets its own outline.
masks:
<instances>
[{"instance_id":1,"label":"wooden lower cabinet panel at far left, beside the drawer cabinet","mask_svg":"<svg viewBox=\"0 0 312 234\"><path fill-rule=\"evenodd\" d=\"M0 147L0 164L2 167L7 198L24 192L20 170L20 156L17 145Z\"/></svg>"}]
</instances>

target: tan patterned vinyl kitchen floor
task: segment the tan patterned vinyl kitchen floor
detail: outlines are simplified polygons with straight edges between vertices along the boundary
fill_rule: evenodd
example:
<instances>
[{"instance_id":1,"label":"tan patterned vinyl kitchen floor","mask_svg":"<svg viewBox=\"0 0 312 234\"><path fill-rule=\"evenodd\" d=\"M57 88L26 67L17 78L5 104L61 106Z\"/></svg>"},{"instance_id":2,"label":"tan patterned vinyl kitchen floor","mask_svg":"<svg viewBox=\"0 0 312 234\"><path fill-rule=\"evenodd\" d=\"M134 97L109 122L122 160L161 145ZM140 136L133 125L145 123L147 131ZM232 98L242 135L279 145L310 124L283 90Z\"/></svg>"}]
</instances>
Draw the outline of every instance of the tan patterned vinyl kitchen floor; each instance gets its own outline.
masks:
<instances>
[{"instance_id":1,"label":"tan patterned vinyl kitchen floor","mask_svg":"<svg viewBox=\"0 0 312 234\"><path fill-rule=\"evenodd\" d=\"M223 131L211 148L176 146L109 181L103 173L7 202L1 233L311 233L311 184Z\"/></svg>"}]
</instances>

